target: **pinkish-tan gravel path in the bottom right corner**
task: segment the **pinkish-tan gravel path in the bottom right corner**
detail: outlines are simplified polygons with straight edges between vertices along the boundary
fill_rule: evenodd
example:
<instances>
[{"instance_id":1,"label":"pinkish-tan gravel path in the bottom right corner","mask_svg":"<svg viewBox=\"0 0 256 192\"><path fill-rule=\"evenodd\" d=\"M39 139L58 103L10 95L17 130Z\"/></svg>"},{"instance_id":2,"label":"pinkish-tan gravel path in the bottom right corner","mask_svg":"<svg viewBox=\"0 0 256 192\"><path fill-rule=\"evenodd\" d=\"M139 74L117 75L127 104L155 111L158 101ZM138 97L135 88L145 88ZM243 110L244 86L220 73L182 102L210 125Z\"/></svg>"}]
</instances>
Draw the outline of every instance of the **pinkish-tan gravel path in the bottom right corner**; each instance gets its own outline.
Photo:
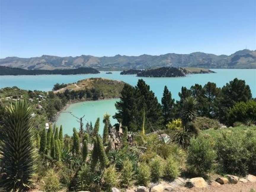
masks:
<instances>
[{"instance_id":1,"label":"pinkish-tan gravel path in the bottom right corner","mask_svg":"<svg viewBox=\"0 0 256 192\"><path fill-rule=\"evenodd\" d=\"M256 182L237 183L237 184L225 184L219 186L209 186L207 188L180 188L175 189L175 192L249 192L250 189L256 191Z\"/></svg>"}]
</instances>

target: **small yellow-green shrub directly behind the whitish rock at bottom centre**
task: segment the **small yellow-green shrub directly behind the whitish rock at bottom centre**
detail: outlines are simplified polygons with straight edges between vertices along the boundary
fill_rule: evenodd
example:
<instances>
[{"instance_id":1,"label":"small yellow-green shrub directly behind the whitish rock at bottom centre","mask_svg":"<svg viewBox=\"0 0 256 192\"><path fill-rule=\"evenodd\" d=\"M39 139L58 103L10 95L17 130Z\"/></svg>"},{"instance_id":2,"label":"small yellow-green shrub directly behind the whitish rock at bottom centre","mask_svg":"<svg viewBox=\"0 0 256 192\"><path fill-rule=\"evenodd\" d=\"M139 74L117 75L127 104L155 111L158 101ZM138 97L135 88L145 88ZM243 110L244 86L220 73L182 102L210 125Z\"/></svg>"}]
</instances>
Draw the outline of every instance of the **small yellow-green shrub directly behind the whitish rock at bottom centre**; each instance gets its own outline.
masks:
<instances>
[{"instance_id":1,"label":"small yellow-green shrub directly behind the whitish rock at bottom centre","mask_svg":"<svg viewBox=\"0 0 256 192\"><path fill-rule=\"evenodd\" d=\"M146 163L140 163L137 173L137 184L148 186L150 180L150 167Z\"/></svg>"}]
</instances>

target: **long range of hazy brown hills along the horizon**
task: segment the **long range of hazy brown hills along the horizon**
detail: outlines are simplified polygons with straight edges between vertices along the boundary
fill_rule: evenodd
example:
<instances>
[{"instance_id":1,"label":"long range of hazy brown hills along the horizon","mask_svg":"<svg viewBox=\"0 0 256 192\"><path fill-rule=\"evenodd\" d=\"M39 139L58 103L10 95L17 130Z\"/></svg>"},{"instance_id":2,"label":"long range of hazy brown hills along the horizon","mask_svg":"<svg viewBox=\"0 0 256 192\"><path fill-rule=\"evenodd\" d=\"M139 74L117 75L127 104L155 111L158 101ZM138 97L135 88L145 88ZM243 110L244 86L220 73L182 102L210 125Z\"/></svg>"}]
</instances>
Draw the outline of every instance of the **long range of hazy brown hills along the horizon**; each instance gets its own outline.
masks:
<instances>
[{"instance_id":1,"label":"long range of hazy brown hills along the horizon","mask_svg":"<svg viewBox=\"0 0 256 192\"><path fill-rule=\"evenodd\" d=\"M231 55L214 55L202 52L191 54L167 53L165 55L140 55L113 57L94 57L81 55L77 57L41 57L20 58L6 57L0 59L0 66L23 69L74 69L92 67L98 70L147 69L155 67L199 67L199 68L256 68L256 50L244 49Z\"/></svg>"}]
</instances>

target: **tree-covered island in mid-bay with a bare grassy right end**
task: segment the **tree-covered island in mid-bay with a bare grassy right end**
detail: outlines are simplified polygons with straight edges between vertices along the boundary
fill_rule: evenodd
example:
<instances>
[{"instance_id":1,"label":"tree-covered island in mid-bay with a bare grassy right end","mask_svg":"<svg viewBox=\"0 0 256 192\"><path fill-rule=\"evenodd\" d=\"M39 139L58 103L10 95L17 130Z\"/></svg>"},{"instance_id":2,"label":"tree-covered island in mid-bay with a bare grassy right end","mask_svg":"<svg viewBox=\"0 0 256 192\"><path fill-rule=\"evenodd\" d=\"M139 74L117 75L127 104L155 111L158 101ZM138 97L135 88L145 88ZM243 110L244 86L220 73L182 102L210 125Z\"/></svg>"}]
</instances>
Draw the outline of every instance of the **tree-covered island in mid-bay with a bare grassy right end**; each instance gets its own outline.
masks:
<instances>
[{"instance_id":1,"label":"tree-covered island in mid-bay with a bare grassy right end","mask_svg":"<svg viewBox=\"0 0 256 192\"><path fill-rule=\"evenodd\" d=\"M187 74L197 73L216 73L205 68L176 68L176 67L160 67L146 70L130 69L122 71L121 75L137 74L138 77L185 77Z\"/></svg>"}]
</instances>

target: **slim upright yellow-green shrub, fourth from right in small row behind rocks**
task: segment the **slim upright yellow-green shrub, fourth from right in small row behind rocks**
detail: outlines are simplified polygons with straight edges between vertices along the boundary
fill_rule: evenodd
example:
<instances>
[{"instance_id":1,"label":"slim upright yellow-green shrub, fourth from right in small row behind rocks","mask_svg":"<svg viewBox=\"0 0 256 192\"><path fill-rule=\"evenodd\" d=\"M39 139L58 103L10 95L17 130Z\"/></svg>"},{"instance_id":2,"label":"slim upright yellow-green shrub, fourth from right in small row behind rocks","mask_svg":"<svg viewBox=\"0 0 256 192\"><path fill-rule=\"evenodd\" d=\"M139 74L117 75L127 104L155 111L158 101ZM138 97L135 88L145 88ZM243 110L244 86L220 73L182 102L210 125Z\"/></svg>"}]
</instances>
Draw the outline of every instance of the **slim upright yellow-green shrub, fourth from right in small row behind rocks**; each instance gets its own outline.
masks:
<instances>
[{"instance_id":1,"label":"slim upright yellow-green shrub, fourth from right in small row behind rocks","mask_svg":"<svg viewBox=\"0 0 256 192\"><path fill-rule=\"evenodd\" d=\"M123 161L123 168L121 170L121 184L124 187L128 187L132 183L132 177L133 177L133 167L132 167L132 161L130 161L128 158Z\"/></svg>"}]
</instances>

